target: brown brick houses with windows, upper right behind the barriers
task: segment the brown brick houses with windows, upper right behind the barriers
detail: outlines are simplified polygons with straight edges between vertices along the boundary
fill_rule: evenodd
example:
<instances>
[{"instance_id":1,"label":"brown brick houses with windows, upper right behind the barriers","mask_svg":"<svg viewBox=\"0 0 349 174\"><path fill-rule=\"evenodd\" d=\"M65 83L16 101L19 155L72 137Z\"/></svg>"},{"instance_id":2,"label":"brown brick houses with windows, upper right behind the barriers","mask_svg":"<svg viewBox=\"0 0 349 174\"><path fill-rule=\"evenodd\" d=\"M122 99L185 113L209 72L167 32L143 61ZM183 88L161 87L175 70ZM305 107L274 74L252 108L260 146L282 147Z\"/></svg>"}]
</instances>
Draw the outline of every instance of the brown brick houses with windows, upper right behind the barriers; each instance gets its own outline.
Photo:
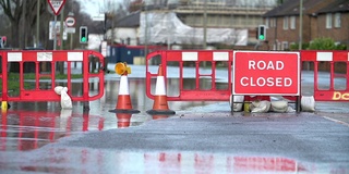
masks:
<instances>
[{"instance_id":1,"label":"brown brick houses with windows, upper right behind the barriers","mask_svg":"<svg viewBox=\"0 0 349 174\"><path fill-rule=\"evenodd\" d=\"M349 1L303 0L300 34L300 1L288 0L263 15L266 29L264 49L289 50L290 46L329 37L349 49ZM297 47L298 48L298 47Z\"/></svg>"}]
</instances>

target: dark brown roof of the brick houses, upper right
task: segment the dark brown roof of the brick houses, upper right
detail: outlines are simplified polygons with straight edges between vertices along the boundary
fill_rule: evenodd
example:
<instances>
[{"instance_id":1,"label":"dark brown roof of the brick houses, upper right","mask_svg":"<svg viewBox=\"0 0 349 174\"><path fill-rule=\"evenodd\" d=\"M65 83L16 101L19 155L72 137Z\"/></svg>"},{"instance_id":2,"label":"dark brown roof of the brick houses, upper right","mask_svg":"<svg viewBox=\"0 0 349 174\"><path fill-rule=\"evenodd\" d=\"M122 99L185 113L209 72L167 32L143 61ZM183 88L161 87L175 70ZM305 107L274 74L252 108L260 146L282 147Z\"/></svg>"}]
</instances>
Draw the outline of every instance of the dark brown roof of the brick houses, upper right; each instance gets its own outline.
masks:
<instances>
[{"instance_id":1,"label":"dark brown roof of the brick houses, upper right","mask_svg":"<svg viewBox=\"0 0 349 174\"><path fill-rule=\"evenodd\" d=\"M303 0L303 13L313 14L318 12L338 12L349 8L348 0ZM282 4L266 12L264 17L299 15L300 1L287 0Z\"/></svg>"}]
</instances>

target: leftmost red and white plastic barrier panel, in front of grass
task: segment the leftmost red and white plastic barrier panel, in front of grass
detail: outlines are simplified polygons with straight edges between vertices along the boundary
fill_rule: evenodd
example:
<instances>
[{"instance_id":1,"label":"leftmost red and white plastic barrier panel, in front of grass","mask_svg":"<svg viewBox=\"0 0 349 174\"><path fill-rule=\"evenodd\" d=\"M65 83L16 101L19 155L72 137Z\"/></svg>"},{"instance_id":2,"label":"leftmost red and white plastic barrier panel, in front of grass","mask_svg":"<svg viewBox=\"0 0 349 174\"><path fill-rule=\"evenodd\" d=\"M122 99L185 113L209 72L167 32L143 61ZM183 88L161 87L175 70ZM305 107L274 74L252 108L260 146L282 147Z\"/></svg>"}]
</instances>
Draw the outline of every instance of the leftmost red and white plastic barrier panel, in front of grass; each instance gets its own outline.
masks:
<instances>
[{"instance_id":1,"label":"leftmost red and white plastic barrier panel, in front of grass","mask_svg":"<svg viewBox=\"0 0 349 174\"><path fill-rule=\"evenodd\" d=\"M104 95L104 57L99 52L31 50L0 51L0 55L1 101L60 101L56 86L68 87L72 101L92 101ZM100 66L96 69L93 62ZM98 92L89 94L94 82Z\"/></svg>"}]
</instances>

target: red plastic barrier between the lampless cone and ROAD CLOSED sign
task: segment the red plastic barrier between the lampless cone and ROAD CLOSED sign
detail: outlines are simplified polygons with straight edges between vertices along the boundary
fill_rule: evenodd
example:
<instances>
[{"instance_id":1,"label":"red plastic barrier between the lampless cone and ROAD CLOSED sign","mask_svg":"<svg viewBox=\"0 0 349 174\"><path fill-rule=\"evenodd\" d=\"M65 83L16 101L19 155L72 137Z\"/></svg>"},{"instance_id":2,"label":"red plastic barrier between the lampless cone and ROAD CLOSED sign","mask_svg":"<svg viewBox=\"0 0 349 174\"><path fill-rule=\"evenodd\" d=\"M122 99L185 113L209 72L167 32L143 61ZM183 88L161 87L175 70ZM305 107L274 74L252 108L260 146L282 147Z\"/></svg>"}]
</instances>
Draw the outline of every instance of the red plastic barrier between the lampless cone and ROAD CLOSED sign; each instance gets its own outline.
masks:
<instances>
[{"instance_id":1,"label":"red plastic barrier between the lampless cone and ROAD CLOSED sign","mask_svg":"<svg viewBox=\"0 0 349 174\"><path fill-rule=\"evenodd\" d=\"M157 57L161 58L161 64L164 70L165 84L167 79L167 67L170 62L178 63L179 67L179 95L178 96L168 96L168 101L228 101L231 95L231 85L228 85L226 88L220 89L217 87L218 77L216 74L216 69L225 70L228 76L228 84L231 84L231 63L232 63L232 51L226 50L171 50L171 51L156 51L147 54L146 57L146 95L148 98L154 99L152 90L152 78L157 77L157 73L152 73L149 71L149 61L156 59ZM184 88L184 64L192 63L194 65L195 86L192 89ZM200 72L201 66L205 67L205 63L210 64L207 66L208 73ZM225 64L224 67L218 67L218 63ZM157 70L158 66L156 66ZM157 71L156 71L157 72ZM192 75L192 74L191 74ZM205 88L204 79L210 79L209 89ZM204 88L203 88L204 87Z\"/></svg>"}]
</instances>

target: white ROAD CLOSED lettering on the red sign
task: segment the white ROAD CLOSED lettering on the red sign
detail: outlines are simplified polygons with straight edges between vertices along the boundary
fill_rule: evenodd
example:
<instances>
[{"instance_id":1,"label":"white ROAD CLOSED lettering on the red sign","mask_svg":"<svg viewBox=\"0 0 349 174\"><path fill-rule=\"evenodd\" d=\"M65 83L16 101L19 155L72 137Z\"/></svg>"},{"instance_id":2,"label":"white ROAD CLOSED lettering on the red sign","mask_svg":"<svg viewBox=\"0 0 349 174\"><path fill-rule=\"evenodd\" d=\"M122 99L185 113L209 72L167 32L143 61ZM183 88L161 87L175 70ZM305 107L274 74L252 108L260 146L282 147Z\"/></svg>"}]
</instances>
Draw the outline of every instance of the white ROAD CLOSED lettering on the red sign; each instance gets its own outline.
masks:
<instances>
[{"instance_id":1,"label":"white ROAD CLOSED lettering on the red sign","mask_svg":"<svg viewBox=\"0 0 349 174\"><path fill-rule=\"evenodd\" d=\"M282 71L285 64L282 61L249 61L249 71ZM292 79L289 77L252 77L243 76L240 79L242 86L276 86L276 87L289 87L292 85Z\"/></svg>"}]
</instances>

